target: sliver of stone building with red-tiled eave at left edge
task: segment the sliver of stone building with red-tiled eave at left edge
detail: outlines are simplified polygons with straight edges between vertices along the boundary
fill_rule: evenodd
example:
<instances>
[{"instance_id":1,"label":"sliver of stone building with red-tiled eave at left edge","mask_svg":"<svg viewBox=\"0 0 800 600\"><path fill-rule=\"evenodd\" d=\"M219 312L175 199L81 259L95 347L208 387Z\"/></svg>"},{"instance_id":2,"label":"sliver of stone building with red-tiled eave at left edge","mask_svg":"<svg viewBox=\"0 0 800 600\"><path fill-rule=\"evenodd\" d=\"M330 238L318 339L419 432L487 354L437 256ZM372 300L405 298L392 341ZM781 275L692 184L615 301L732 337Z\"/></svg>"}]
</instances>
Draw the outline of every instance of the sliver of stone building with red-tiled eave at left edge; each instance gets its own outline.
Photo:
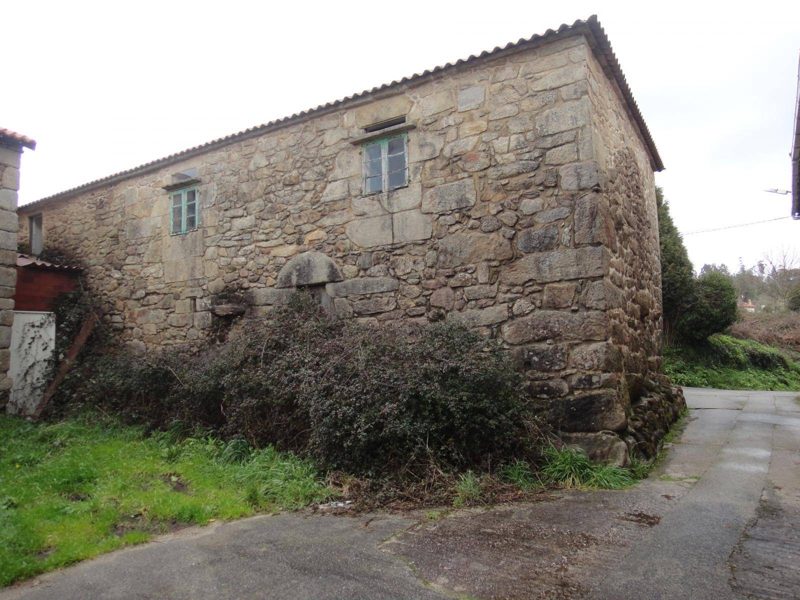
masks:
<instances>
[{"instance_id":1,"label":"sliver of stone building with red-tiled eave at left edge","mask_svg":"<svg viewBox=\"0 0 800 600\"><path fill-rule=\"evenodd\" d=\"M0 410L8 402L13 383L8 376L11 359L9 347L17 283L19 166L25 148L34 150L36 142L0 127Z\"/></svg>"}]
</instances>

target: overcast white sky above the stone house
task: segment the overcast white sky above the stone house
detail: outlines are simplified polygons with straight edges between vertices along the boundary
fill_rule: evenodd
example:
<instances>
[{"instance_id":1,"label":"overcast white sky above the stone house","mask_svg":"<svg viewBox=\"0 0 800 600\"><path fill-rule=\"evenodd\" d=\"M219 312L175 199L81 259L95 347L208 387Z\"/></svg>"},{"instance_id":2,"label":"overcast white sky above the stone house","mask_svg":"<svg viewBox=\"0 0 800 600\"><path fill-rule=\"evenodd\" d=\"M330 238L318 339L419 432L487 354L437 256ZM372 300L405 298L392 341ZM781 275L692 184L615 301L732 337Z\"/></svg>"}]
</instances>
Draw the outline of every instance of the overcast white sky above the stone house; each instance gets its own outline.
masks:
<instances>
[{"instance_id":1,"label":"overcast white sky above the stone house","mask_svg":"<svg viewBox=\"0 0 800 600\"><path fill-rule=\"evenodd\" d=\"M684 232L785 217L800 2L3 3L20 203L597 13ZM7 54L7 55L8 55ZM15 88L15 89L14 89ZM695 267L798 245L790 218L686 236Z\"/></svg>"}]
</instances>

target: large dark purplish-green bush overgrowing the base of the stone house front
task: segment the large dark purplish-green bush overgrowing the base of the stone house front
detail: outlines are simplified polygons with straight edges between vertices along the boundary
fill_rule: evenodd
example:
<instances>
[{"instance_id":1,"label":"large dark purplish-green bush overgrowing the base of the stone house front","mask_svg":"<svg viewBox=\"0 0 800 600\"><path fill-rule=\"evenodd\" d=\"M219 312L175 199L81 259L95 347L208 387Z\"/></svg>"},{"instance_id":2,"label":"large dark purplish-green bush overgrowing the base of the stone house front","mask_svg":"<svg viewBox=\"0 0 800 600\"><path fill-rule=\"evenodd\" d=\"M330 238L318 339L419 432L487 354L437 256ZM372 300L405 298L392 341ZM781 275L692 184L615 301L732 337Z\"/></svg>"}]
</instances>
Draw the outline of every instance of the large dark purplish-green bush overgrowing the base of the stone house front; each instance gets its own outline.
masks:
<instances>
[{"instance_id":1,"label":"large dark purplish-green bush overgrowing the base of the stone house front","mask_svg":"<svg viewBox=\"0 0 800 600\"><path fill-rule=\"evenodd\" d=\"M451 324L364 328L296 294L199 356L88 358L62 402L274 444L371 476L511 457L526 399L497 342Z\"/></svg>"}]
</instances>

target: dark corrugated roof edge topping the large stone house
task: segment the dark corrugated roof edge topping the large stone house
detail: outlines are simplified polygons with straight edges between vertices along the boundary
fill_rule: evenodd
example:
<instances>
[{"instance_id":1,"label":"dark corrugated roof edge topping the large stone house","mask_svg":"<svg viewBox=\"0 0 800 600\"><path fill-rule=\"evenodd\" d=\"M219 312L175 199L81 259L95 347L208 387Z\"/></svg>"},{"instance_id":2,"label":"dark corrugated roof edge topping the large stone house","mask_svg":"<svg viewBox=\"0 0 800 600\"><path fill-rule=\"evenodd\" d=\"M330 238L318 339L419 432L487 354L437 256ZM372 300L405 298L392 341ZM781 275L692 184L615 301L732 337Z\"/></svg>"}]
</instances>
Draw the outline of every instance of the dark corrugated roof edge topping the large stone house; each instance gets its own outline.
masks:
<instances>
[{"instance_id":1,"label":"dark corrugated roof edge topping the large stone house","mask_svg":"<svg viewBox=\"0 0 800 600\"><path fill-rule=\"evenodd\" d=\"M644 122L644 118L642 118L642 114L639 112L633 94L631 94L630 92L630 88L628 87L628 83L626 82L625 75L622 74L622 69L619 66L617 57L614 55L614 50L611 49L611 44L608 40L608 36L606 36L605 30L603 30L602 26L600 25L600 22L598 22L597 15L593 14L590 18L587 18L586 21L578 19L578 21L575 21L572 25L567 25L566 23L563 23L556 30L549 29L546 30L546 32L543 34L534 34L527 39L522 38L519 39L517 42L509 42L506 44L506 46L503 46L502 48L500 46L495 46L494 50L483 50L482 53L480 54L470 54L468 58L459 58L456 62L448 62L442 66L435 66L433 69L424 70L422 71L422 73L417 73L411 75L410 77L404 77L400 80L395 80L390 83L384 83L381 86L372 88L371 90L364 90L362 92L359 92L358 94L346 96L345 98L341 98L340 100L335 100L334 102L326 102L326 104L321 104L316 108L302 110L301 112L294 113L288 117L278 118L275 119L274 121L270 121L262 125L250 127L249 129L239 131L236 134L226 135L224 138L214 139L211 140L210 142L206 142L205 144L201 144L200 146L194 146L192 148L182 150L181 152L170 154L169 156L158 158L154 161L146 162L139 166L134 166L134 168L132 169L120 171L118 173L108 175L107 177L104 178L95 179L93 182L85 183L82 186L70 188L69 190L64 190L52 196L47 196L46 198L42 198L40 200L37 200L36 202L30 202L30 204L20 206L19 210L28 210L31 208L37 208L38 206L49 204L50 202L54 202L62 198L68 198L74 194L79 194L81 192L85 192L100 186L105 186L110 183L120 181L134 174L140 174L146 171L154 170L161 166L168 165L172 162L178 162L178 160L189 158L190 156L194 156L195 154L200 154L202 153L202 151L210 150L211 148L217 146L225 146L226 144L230 142L235 142L238 139L250 138L253 137L254 135L262 134L266 130L278 129L278 127L286 126L292 122L297 121L298 119L307 117L311 114L317 114L324 110L329 110L337 106L340 106L344 102L355 100L357 98L363 98L364 96L367 96L369 94L375 94L382 90L386 90L387 88L390 87L400 86L403 83L415 82L418 81L418 79L427 77L431 74L438 73L442 70L452 69L454 67L458 67L466 63L472 63L481 60L493 54L497 54L502 50L509 50L532 42L550 41L551 39L554 38L566 38L568 37L568 35L579 34L579 33L591 34L591 37L593 39L590 41L594 42L591 44L592 48L596 53L598 53L599 55L602 56L602 58L605 59L603 62L605 62L606 64L603 65L603 68L606 70L606 75L617 82L617 85L619 86L619 89L622 92L622 96L623 98L625 98L628 110L630 110L631 117L634 119L634 122L636 122L638 129L642 134L642 140L645 142L648 150L650 150L650 155L653 159L654 170L658 171L663 170L664 164L661 160L661 157L658 155L658 149L656 148L655 143L653 142L653 138L650 136L650 130L647 129L647 126Z\"/></svg>"}]
</instances>

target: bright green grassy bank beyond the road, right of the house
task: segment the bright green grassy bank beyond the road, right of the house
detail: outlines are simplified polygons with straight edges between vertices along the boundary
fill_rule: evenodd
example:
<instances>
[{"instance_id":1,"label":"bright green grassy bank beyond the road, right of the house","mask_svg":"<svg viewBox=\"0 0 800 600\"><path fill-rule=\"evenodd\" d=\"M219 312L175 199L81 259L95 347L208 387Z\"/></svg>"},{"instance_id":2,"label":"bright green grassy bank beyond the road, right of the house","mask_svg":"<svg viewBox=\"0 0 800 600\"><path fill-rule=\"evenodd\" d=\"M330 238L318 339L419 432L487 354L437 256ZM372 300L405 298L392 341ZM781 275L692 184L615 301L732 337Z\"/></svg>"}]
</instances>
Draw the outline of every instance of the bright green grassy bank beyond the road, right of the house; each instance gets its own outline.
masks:
<instances>
[{"instance_id":1,"label":"bright green grassy bank beyond the road, right of the house","mask_svg":"<svg viewBox=\"0 0 800 600\"><path fill-rule=\"evenodd\" d=\"M666 346L664 372L678 386L719 390L800 390L800 363L781 350L727 335L703 346Z\"/></svg>"}]
</instances>

